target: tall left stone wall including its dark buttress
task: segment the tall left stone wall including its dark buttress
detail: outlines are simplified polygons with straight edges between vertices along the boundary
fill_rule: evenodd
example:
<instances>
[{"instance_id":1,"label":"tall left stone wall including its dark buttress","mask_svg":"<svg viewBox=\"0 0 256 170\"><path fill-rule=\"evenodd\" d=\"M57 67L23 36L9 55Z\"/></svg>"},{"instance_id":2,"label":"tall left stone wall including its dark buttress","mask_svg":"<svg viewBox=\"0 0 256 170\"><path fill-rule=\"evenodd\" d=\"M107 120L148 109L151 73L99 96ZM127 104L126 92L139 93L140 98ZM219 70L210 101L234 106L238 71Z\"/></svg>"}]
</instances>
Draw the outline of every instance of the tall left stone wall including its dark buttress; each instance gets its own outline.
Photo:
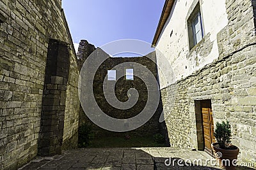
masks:
<instances>
[{"instance_id":1,"label":"tall left stone wall including its dark buttress","mask_svg":"<svg viewBox=\"0 0 256 170\"><path fill-rule=\"evenodd\" d=\"M17 169L76 147L79 71L61 0L0 6L0 169Z\"/></svg>"}]
</instances>

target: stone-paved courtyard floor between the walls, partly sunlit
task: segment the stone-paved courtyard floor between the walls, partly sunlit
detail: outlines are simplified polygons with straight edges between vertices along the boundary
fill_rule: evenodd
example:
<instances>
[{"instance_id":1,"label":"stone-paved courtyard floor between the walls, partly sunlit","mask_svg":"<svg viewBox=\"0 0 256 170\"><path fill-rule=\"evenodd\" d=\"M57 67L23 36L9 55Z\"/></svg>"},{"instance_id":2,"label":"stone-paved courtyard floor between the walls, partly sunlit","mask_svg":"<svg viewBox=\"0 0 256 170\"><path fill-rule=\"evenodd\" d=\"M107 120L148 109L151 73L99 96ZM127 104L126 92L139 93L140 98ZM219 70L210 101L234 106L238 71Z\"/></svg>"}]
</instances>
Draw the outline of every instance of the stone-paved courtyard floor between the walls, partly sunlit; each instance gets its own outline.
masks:
<instances>
[{"instance_id":1,"label":"stone-paved courtyard floor between the walls, partly sunlit","mask_svg":"<svg viewBox=\"0 0 256 170\"><path fill-rule=\"evenodd\" d=\"M174 162L165 166L164 162ZM166 161L166 159L169 159ZM174 160L175 159L175 160ZM180 159L180 160L179 160ZM185 165L182 160L201 159L201 166ZM186 149L173 148L84 148L68 150L63 155L54 157L36 158L20 170L65 170L65 169L219 169L209 164L205 166L205 160L211 159L205 152L195 152ZM189 162L188 162L189 164ZM249 167L237 167L238 169L250 169Z\"/></svg>"}]
</instances>

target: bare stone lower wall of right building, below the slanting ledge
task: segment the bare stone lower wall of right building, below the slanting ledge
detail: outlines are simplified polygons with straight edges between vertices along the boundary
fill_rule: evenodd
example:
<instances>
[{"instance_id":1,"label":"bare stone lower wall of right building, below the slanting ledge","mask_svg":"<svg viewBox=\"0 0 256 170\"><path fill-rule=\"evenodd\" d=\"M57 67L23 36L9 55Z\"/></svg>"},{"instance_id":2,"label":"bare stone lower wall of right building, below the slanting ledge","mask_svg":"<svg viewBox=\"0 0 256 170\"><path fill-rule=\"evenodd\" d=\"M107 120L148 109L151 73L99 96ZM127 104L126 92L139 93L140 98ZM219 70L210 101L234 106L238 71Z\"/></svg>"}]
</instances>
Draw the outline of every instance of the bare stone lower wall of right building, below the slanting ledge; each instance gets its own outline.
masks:
<instances>
[{"instance_id":1,"label":"bare stone lower wall of right building, below the slanting ledge","mask_svg":"<svg viewBox=\"0 0 256 170\"><path fill-rule=\"evenodd\" d=\"M161 90L171 146L198 148L195 101L211 99L214 122L229 120L232 125L232 142L241 149L241 156L251 159L255 157L254 48L255 45L250 46L205 66L188 78L177 81L173 85L175 88L170 86ZM237 67L237 62L241 62L241 66ZM168 105L173 103L169 103L168 94L173 93L176 99L170 108ZM248 137L245 139L245 136ZM251 146L250 150L248 146Z\"/></svg>"}]
</instances>

